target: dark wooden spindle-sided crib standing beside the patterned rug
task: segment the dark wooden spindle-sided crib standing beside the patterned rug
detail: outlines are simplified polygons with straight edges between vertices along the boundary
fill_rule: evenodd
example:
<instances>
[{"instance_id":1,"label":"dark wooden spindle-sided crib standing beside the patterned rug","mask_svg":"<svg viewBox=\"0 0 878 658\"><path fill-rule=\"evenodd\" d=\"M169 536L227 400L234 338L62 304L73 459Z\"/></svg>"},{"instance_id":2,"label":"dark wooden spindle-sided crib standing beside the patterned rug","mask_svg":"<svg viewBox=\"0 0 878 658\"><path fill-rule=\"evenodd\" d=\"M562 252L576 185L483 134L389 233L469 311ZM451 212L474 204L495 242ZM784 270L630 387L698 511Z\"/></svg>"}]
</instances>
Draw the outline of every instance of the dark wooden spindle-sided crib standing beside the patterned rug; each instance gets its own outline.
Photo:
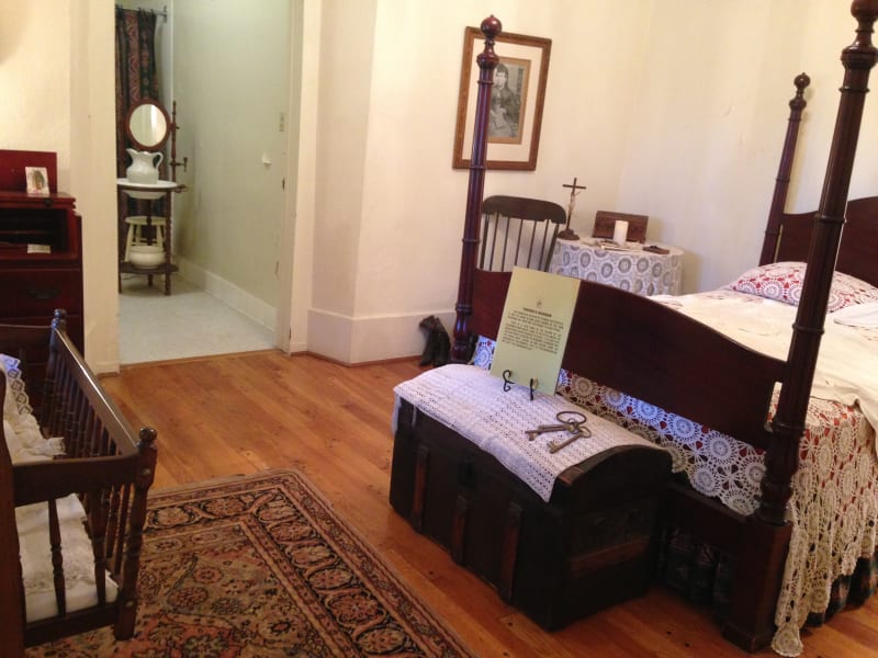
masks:
<instances>
[{"instance_id":1,"label":"dark wooden spindle-sided crib standing beside the patterned rug","mask_svg":"<svg viewBox=\"0 0 878 658\"><path fill-rule=\"evenodd\" d=\"M0 352L22 361L25 382L44 381L34 409L45 436L63 436L65 454L44 462L13 464L0 441L0 635L8 655L24 646L113 625L117 639L134 633L137 576L146 496L156 468L156 432L135 433L110 400L66 333L66 314L55 311L52 327L0 325ZM0 376L0 398L5 377ZM64 546L55 499L78 494L94 555L97 597L92 608L66 611ZM25 623L14 508L48 506L55 597L60 614ZM104 575L119 588L105 602ZM11 587L10 587L11 586ZM0 651L2 653L2 651ZM7 654L4 654L7 655Z\"/></svg>"}]
</instances>

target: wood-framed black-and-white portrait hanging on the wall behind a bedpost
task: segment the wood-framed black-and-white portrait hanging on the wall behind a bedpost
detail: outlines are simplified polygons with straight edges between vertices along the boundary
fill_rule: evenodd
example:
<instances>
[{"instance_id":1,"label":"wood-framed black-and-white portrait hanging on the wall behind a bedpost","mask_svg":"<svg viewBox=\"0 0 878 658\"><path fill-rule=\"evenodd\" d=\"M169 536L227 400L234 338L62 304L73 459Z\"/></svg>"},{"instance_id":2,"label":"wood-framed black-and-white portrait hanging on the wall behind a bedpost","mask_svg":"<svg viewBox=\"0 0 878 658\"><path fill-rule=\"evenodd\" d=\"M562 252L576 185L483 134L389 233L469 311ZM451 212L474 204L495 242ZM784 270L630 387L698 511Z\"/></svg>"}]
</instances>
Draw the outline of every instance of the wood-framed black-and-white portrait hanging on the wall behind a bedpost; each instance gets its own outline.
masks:
<instances>
[{"instance_id":1,"label":"wood-framed black-and-white portrait hanging on the wall behind a bedpost","mask_svg":"<svg viewBox=\"0 0 878 658\"><path fill-rule=\"evenodd\" d=\"M454 169L470 167L479 82L475 57L482 52L481 43L484 43L482 31L466 27L454 129ZM537 169L551 50L552 39L538 36L500 33L495 39L494 52L499 64L494 69L491 90L487 169Z\"/></svg>"}]
</instances>

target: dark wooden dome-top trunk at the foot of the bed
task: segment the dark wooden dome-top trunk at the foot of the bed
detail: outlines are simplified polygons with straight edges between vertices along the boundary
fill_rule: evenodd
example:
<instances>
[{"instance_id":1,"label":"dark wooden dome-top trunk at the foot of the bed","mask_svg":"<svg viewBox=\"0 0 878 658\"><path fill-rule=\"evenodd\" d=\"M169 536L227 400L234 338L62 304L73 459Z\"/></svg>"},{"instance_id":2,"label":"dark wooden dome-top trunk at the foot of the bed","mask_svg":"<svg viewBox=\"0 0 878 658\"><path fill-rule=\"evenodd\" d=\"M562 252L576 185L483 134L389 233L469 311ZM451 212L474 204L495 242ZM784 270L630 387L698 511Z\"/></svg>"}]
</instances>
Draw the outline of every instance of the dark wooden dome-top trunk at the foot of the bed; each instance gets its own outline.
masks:
<instances>
[{"instance_id":1,"label":"dark wooden dome-top trunk at the foot of the bed","mask_svg":"<svg viewBox=\"0 0 878 658\"><path fill-rule=\"evenodd\" d=\"M598 453L562 473L547 503L494 456L399 401L391 504L505 601L555 629L646 591L668 453Z\"/></svg>"}]
</instances>

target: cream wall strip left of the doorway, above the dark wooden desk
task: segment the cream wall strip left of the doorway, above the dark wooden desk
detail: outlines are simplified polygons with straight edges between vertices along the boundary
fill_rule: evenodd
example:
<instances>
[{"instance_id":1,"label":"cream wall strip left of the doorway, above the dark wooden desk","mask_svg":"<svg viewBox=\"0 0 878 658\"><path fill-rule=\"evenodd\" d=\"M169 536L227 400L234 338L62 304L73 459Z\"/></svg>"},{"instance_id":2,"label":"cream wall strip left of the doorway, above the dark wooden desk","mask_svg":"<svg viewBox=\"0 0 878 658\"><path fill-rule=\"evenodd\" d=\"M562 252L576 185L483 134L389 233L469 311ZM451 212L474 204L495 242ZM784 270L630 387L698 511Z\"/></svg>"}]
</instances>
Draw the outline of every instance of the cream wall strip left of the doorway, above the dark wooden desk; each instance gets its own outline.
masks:
<instances>
[{"instance_id":1,"label":"cream wall strip left of the doorway, above the dark wooden desk","mask_svg":"<svg viewBox=\"0 0 878 658\"><path fill-rule=\"evenodd\" d=\"M86 352L98 371L119 362L112 8L0 0L0 146L58 154L58 188L82 215Z\"/></svg>"}]
</instances>

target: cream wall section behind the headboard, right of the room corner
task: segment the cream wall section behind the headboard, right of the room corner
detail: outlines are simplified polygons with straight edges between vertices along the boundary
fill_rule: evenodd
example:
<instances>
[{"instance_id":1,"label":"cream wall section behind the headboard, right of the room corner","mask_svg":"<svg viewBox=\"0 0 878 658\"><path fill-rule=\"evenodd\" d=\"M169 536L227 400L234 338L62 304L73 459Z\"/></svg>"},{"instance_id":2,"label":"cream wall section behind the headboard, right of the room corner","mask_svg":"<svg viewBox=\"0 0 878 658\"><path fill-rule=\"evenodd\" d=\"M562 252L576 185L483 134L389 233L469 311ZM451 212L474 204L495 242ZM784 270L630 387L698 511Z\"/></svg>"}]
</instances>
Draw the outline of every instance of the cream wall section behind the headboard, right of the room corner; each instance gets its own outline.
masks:
<instances>
[{"instance_id":1,"label":"cream wall section behind the headboard, right of the room corner","mask_svg":"<svg viewBox=\"0 0 878 658\"><path fill-rule=\"evenodd\" d=\"M856 23L843 3L819 0L687 0L656 9L617 203L649 214L661 230L653 235L687 250L685 292L708 290L758 258L787 102L802 71L812 82L789 207L817 207L843 78L838 56ZM723 29L707 31L711 22ZM875 102L867 103L864 145L878 127ZM874 181L876 163L864 154L855 179ZM857 185L860 194L869 190Z\"/></svg>"}]
</instances>

